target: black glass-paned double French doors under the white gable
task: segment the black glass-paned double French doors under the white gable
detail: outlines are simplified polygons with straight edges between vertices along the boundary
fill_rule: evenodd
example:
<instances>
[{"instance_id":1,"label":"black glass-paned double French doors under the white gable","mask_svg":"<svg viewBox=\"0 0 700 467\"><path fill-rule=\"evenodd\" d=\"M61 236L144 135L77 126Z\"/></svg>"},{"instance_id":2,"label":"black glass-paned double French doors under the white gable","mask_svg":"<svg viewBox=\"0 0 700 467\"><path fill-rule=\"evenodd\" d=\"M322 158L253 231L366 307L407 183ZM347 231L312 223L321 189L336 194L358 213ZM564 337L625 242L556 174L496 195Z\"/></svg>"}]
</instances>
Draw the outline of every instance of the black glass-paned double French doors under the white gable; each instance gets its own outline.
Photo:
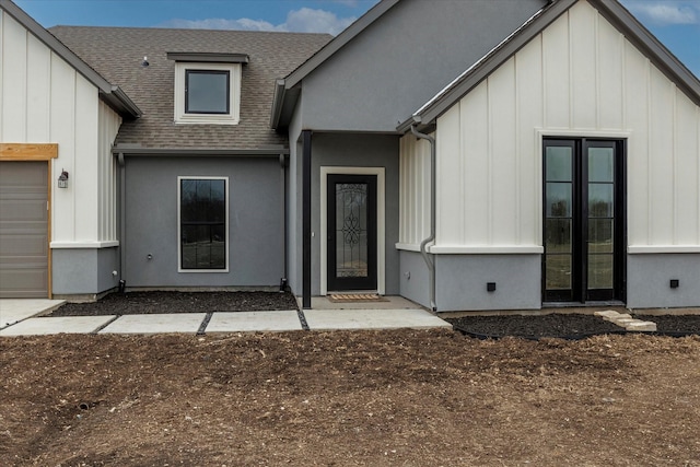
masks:
<instances>
[{"instance_id":1,"label":"black glass-paned double French doors under the white gable","mask_svg":"<svg viewBox=\"0 0 700 467\"><path fill-rule=\"evenodd\" d=\"M625 301L625 145L544 141L545 302Z\"/></svg>"}]
</instances>

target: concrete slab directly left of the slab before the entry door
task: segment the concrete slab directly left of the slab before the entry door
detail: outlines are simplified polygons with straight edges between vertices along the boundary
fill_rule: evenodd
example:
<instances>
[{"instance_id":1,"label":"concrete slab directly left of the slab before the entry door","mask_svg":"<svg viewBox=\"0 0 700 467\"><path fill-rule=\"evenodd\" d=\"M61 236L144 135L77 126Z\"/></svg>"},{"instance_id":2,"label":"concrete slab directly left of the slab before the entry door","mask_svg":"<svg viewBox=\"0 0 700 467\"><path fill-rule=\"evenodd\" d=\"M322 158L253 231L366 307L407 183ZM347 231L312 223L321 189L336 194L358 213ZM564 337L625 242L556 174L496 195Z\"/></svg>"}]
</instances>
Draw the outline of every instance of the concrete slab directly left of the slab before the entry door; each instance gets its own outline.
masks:
<instances>
[{"instance_id":1,"label":"concrete slab directly left of the slab before the entry door","mask_svg":"<svg viewBox=\"0 0 700 467\"><path fill-rule=\"evenodd\" d=\"M301 330L296 311L219 312L214 313L205 332Z\"/></svg>"}]
</instances>

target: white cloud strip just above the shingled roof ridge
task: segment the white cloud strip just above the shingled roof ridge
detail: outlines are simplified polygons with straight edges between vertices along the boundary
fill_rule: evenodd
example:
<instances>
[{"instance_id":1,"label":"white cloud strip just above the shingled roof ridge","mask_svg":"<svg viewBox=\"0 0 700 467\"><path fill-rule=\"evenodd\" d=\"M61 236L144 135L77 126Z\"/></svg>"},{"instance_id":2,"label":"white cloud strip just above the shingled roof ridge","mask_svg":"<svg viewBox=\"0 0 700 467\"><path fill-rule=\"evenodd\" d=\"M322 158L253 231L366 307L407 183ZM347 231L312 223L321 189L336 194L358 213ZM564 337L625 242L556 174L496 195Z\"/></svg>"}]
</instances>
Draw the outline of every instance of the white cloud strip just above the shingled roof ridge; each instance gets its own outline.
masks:
<instances>
[{"instance_id":1,"label":"white cloud strip just above the shingled roof ridge","mask_svg":"<svg viewBox=\"0 0 700 467\"><path fill-rule=\"evenodd\" d=\"M347 0L345 0L347 1ZM302 8L292 10L287 14L287 21L282 24L272 24L262 20L241 17L226 20L211 17L207 20L170 20L160 24L160 27L176 27L186 30L237 30L237 31L282 31L295 33L329 33L339 34L348 27L355 17L338 17L335 13L325 10Z\"/></svg>"}]
</instances>

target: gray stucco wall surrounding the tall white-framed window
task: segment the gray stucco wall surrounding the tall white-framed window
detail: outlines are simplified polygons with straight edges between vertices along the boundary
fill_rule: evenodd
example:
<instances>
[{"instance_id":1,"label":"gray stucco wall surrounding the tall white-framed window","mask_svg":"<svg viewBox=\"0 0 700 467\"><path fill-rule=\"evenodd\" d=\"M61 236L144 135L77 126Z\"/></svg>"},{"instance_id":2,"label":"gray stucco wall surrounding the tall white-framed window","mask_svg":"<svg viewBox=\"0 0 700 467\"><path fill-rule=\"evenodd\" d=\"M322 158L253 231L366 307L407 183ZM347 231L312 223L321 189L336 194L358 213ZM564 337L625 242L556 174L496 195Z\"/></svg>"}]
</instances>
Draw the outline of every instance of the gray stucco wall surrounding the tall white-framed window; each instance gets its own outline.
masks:
<instances>
[{"instance_id":1,"label":"gray stucco wall surrounding the tall white-framed window","mask_svg":"<svg viewBox=\"0 0 700 467\"><path fill-rule=\"evenodd\" d=\"M177 271L178 176L229 177L229 272ZM127 288L278 285L281 183L278 157L127 157Z\"/></svg>"}]
</instances>

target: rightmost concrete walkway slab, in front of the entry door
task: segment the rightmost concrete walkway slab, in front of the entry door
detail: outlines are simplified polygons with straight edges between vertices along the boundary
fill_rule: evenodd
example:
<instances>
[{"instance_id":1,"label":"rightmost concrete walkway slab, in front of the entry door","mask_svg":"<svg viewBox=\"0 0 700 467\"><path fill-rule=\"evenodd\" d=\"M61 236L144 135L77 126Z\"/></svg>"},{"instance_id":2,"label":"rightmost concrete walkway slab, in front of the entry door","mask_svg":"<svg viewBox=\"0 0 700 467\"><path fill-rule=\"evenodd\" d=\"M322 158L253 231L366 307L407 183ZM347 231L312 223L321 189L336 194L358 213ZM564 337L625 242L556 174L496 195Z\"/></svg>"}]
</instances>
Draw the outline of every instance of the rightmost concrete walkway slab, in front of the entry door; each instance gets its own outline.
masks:
<instances>
[{"instance_id":1,"label":"rightmost concrete walkway slab, in front of the entry door","mask_svg":"<svg viewBox=\"0 0 700 467\"><path fill-rule=\"evenodd\" d=\"M312 330L452 328L424 310L304 310L304 316Z\"/></svg>"}]
</instances>

